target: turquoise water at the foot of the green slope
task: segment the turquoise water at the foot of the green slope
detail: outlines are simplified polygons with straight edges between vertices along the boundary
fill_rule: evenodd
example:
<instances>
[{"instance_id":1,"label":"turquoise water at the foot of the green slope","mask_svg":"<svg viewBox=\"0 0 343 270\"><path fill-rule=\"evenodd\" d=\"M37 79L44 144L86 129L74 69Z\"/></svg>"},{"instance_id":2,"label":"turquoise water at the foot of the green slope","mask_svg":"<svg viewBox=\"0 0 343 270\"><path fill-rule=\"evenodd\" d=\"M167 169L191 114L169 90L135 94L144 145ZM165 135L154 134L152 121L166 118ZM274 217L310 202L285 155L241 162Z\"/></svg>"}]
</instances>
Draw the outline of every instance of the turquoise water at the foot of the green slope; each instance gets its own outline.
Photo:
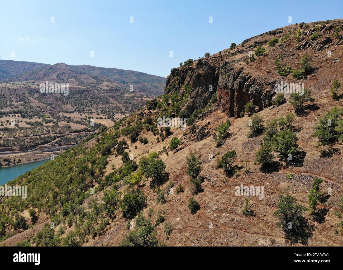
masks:
<instances>
[{"instance_id":1,"label":"turquoise water at the foot of the green slope","mask_svg":"<svg viewBox=\"0 0 343 270\"><path fill-rule=\"evenodd\" d=\"M11 167L0 167L0 185L6 184L8 181L13 180L15 177L18 177L27 171L31 171L32 169L38 167L39 165L42 165L49 160L50 159Z\"/></svg>"}]
</instances>

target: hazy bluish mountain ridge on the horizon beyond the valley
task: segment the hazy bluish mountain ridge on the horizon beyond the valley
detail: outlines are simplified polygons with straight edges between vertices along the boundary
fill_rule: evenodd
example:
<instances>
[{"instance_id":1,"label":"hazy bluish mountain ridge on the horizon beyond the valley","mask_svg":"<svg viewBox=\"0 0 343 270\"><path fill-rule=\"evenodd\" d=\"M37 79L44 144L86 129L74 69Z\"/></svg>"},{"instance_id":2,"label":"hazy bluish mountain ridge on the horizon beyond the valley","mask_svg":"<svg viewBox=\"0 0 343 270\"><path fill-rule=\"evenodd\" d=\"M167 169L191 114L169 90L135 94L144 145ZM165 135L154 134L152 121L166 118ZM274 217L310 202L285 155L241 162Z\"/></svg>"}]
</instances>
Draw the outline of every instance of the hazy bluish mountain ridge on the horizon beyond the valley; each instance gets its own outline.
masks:
<instances>
[{"instance_id":1,"label":"hazy bluish mountain ridge on the horizon beyond the valley","mask_svg":"<svg viewBox=\"0 0 343 270\"><path fill-rule=\"evenodd\" d=\"M0 60L0 82L64 82L70 85L121 86L157 96L163 93L166 78L143 72L88 65L70 66L65 63L54 65Z\"/></svg>"}]
</instances>

